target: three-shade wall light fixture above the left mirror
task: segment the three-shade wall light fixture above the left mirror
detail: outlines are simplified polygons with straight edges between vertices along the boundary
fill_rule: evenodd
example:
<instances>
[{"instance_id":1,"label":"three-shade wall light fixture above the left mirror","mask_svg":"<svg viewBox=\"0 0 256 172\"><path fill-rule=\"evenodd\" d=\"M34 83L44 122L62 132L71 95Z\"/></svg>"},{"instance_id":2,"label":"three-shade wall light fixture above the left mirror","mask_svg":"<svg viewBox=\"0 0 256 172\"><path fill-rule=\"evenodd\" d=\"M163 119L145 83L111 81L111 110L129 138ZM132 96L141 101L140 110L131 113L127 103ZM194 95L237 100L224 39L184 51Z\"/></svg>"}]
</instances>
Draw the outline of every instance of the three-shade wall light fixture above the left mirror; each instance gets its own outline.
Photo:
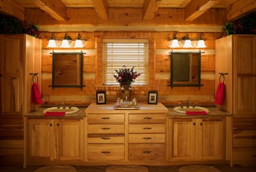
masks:
<instances>
[{"instance_id":1,"label":"three-shade wall light fixture above the left mirror","mask_svg":"<svg viewBox=\"0 0 256 172\"><path fill-rule=\"evenodd\" d=\"M67 33L65 34L63 39L55 39L54 34L52 34L51 38L49 39L47 48L58 47L56 45L56 41L61 41L61 46L60 46L61 48L70 48L70 43L72 43L72 41L76 41L74 48L83 48L84 47L83 43L84 41L87 41L87 40L82 39L80 34L78 34L77 39L70 38L70 36L68 36Z\"/></svg>"}]
</instances>

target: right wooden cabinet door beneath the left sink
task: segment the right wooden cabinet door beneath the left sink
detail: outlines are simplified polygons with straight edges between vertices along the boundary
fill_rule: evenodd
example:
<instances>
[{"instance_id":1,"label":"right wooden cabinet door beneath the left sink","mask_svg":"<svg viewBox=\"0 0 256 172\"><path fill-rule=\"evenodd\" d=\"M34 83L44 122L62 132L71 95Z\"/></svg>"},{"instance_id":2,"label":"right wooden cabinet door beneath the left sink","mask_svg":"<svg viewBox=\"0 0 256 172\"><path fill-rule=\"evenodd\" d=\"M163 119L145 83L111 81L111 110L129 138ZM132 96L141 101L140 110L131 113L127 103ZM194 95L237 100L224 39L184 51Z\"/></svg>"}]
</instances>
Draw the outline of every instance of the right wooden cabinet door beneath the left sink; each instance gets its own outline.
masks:
<instances>
[{"instance_id":1,"label":"right wooden cabinet door beneath the left sink","mask_svg":"<svg viewBox=\"0 0 256 172\"><path fill-rule=\"evenodd\" d=\"M65 119L58 120L58 155L60 160L83 159L83 120Z\"/></svg>"}]
</instances>

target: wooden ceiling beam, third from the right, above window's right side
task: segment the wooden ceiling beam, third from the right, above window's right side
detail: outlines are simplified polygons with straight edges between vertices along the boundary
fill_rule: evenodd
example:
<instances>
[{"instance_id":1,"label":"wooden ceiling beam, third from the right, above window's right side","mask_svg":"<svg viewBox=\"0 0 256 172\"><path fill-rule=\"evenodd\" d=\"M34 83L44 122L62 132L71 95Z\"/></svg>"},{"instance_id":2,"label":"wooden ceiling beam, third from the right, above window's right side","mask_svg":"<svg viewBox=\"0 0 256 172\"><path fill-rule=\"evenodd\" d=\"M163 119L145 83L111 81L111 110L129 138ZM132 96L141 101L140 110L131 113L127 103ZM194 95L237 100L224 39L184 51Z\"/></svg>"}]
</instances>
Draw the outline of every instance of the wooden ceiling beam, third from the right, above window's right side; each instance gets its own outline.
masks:
<instances>
[{"instance_id":1,"label":"wooden ceiling beam, third from the right, above window's right side","mask_svg":"<svg viewBox=\"0 0 256 172\"><path fill-rule=\"evenodd\" d=\"M159 8L161 0L145 0L142 7L142 20L152 20L157 9Z\"/></svg>"}]
</instances>

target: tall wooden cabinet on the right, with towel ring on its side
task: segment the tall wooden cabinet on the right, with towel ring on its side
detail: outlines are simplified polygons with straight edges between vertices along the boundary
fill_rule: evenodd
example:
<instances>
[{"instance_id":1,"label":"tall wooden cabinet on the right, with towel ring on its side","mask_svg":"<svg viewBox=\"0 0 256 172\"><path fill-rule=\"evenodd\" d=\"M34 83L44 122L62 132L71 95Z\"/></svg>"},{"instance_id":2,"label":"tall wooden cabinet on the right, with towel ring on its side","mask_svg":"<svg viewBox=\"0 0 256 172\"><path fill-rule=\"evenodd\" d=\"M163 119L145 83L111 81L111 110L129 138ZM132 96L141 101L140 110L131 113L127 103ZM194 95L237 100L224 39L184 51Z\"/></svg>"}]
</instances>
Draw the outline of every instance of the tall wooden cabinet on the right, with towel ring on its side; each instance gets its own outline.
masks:
<instances>
[{"instance_id":1,"label":"tall wooden cabinet on the right, with towel ring on its side","mask_svg":"<svg viewBox=\"0 0 256 172\"><path fill-rule=\"evenodd\" d=\"M216 40L216 89L219 73L228 74L224 82L225 101L219 107L234 117L231 165L252 165L255 162L256 35L230 35Z\"/></svg>"}]
</instances>

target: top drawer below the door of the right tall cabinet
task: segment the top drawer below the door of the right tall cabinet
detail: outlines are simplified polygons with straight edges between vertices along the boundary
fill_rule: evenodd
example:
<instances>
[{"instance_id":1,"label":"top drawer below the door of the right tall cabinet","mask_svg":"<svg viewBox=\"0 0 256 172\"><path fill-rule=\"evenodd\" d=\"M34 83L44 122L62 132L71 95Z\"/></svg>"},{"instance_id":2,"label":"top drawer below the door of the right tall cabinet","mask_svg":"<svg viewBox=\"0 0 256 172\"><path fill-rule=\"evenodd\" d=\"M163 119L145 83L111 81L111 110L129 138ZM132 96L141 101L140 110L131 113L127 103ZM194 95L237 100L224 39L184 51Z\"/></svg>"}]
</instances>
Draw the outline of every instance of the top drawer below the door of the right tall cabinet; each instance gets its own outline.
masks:
<instances>
[{"instance_id":1,"label":"top drawer below the door of the right tall cabinet","mask_svg":"<svg viewBox=\"0 0 256 172\"><path fill-rule=\"evenodd\" d=\"M256 129L256 118L234 118L234 129Z\"/></svg>"}]
</instances>

